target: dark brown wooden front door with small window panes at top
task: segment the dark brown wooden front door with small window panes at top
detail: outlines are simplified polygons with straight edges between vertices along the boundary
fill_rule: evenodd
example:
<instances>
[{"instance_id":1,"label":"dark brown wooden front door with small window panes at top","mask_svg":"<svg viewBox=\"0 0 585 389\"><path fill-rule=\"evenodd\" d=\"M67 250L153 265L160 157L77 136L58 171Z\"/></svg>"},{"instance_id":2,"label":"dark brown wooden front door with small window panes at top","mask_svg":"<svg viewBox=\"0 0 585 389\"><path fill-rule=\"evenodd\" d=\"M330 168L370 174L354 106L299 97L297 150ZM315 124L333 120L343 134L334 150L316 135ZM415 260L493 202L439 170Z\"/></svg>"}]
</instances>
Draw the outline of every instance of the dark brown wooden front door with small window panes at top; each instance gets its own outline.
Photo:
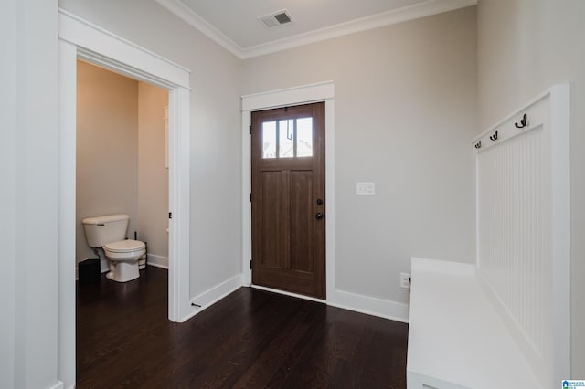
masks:
<instances>
[{"instance_id":1,"label":"dark brown wooden front door with small window panes at top","mask_svg":"<svg viewBox=\"0 0 585 389\"><path fill-rule=\"evenodd\" d=\"M252 283L324 299L324 103L251 123Z\"/></svg>"}]
</instances>

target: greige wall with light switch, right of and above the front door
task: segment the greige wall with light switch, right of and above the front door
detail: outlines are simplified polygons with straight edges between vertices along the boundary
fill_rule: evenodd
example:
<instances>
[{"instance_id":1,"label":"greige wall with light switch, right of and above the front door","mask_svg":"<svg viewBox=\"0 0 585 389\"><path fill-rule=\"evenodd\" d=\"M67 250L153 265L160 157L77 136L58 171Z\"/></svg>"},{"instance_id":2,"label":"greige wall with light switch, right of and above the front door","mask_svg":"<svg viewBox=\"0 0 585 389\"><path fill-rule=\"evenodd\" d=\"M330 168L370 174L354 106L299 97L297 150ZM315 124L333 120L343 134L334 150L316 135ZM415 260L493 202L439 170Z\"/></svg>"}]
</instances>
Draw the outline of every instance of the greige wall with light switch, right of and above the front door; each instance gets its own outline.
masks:
<instances>
[{"instance_id":1,"label":"greige wall with light switch, right of and above the front door","mask_svg":"<svg viewBox=\"0 0 585 389\"><path fill-rule=\"evenodd\" d=\"M410 257L473 262L475 30L470 7L244 61L244 94L335 82L337 289L407 303Z\"/></svg>"}]
</instances>

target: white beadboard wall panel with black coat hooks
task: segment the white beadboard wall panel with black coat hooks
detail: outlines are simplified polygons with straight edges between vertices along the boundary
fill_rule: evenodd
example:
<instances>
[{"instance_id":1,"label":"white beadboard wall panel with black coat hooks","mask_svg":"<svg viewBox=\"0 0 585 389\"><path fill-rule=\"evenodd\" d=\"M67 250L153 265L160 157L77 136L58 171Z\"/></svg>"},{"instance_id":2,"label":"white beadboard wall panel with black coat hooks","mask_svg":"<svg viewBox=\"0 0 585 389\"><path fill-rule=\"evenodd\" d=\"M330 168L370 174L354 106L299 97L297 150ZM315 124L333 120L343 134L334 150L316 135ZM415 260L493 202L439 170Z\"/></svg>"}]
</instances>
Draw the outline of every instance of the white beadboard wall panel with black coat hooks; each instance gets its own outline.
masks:
<instances>
[{"instance_id":1,"label":"white beadboard wall panel with black coat hooks","mask_svg":"<svg viewBox=\"0 0 585 389\"><path fill-rule=\"evenodd\" d=\"M553 90L568 95L568 88ZM559 325L569 317L569 289L558 285L569 279L569 258L562 250L569 245L556 236L569 226L558 218L565 212L558 198L569 193L569 182L557 185L556 177L569 161L558 155L558 145L569 144L564 130L553 126L557 113L550 96L542 95L474 141L478 275L545 387L568 376L555 371L558 359L567 370L569 365L569 331ZM524 113L527 125L518 128ZM558 299L561 294L565 300ZM556 317L558 305L563 318ZM557 332L563 332L564 342L558 342Z\"/></svg>"}]
</instances>

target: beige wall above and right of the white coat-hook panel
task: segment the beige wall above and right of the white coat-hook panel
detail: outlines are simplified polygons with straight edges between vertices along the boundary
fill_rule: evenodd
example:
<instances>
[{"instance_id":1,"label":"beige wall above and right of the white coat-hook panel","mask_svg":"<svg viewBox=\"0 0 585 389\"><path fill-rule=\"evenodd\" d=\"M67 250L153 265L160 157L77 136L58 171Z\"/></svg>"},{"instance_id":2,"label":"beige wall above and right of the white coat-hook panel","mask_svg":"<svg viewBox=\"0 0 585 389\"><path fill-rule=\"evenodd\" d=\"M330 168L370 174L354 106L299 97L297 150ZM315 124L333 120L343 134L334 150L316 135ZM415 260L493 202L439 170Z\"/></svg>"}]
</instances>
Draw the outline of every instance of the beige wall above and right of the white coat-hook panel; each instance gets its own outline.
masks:
<instances>
[{"instance_id":1,"label":"beige wall above and right of the white coat-hook panel","mask_svg":"<svg viewBox=\"0 0 585 389\"><path fill-rule=\"evenodd\" d=\"M537 94L570 82L571 374L585 377L585 2L480 0L478 96L486 129Z\"/></svg>"}]
</instances>

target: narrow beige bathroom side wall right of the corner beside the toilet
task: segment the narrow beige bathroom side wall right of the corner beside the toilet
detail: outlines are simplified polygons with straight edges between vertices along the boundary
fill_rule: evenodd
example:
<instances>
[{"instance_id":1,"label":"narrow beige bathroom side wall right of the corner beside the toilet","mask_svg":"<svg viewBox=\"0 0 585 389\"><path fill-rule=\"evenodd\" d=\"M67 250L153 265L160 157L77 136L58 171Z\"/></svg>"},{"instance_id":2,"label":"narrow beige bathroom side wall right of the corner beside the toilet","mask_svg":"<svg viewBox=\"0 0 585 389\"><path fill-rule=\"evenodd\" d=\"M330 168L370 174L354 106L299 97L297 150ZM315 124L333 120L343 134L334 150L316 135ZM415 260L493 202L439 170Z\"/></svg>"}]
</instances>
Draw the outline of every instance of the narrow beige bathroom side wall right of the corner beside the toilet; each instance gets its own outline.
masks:
<instances>
[{"instance_id":1,"label":"narrow beige bathroom side wall right of the corner beside the toilet","mask_svg":"<svg viewBox=\"0 0 585 389\"><path fill-rule=\"evenodd\" d=\"M165 106L168 91L138 83L138 238L148 242L149 256L168 264Z\"/></svg>"}]
</instances>

